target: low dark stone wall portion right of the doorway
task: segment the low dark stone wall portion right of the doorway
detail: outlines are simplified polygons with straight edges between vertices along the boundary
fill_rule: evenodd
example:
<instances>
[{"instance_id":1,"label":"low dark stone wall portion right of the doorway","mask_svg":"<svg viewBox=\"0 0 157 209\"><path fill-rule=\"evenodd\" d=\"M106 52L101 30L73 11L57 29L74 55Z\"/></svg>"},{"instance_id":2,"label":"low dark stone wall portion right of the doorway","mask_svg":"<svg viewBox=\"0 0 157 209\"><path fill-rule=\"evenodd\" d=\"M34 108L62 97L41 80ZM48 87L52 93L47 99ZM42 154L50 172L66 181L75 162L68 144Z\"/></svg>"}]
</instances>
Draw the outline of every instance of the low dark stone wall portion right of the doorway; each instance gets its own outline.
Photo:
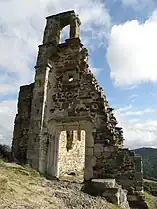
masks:
<instances>
[{"instance_id":1,"label":"low dark stone wall portion right of the doorway","mask_svg":"<svg viewBox=\"0 0 157 209\"><path fill-rule=\"evenodd\" d=\"M102 150L102 151L101 151ZM114 178L124 189L142 191L142 158L128 149L95 144L94 178Z\"/></svg>"}]
</instances>

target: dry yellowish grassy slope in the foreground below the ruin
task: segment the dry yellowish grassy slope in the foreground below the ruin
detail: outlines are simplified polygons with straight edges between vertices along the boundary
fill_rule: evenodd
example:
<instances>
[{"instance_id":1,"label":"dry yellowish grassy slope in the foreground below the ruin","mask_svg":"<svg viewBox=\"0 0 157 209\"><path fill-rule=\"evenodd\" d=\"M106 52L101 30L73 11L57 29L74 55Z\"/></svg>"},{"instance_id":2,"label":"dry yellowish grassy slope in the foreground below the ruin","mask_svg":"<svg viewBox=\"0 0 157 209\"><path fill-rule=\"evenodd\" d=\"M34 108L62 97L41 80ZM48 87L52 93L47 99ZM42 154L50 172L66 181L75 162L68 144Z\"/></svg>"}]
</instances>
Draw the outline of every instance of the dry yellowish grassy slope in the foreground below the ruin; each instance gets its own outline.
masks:
<instances>
[{"instance_id":1,"label":"dry yellowish grassy slope in the foreground below the ruin","mask_svg":"<svg viewBox=\"0 0 157 209\"><path fill-rule=\"evenodd\" d=\"M82 185L49 181L28 166L0 162L0 209L118 209Z\"/></svg>"}]
</instances>

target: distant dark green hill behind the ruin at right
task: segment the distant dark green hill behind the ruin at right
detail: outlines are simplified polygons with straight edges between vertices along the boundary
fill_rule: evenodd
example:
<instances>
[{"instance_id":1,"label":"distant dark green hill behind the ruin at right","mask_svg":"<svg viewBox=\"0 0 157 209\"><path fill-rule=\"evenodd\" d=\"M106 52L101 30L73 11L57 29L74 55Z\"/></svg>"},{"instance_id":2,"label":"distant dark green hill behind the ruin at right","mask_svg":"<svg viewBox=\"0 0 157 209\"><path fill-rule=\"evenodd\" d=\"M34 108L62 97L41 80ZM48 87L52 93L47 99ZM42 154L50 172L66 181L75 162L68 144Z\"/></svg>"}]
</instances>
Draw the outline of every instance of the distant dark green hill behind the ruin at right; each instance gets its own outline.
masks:
<instances>
[{"instance_id":1,"label":"distant dark green hill behind the ruin at right","mask_svg":"<svg viewBox=\"0 0 157 209\"><path fill-rule=\"evenodd\" d=\"M143 158L144 178L157 180L157 149L139 148L133 151Z\"/></svg>"}]
</instances>

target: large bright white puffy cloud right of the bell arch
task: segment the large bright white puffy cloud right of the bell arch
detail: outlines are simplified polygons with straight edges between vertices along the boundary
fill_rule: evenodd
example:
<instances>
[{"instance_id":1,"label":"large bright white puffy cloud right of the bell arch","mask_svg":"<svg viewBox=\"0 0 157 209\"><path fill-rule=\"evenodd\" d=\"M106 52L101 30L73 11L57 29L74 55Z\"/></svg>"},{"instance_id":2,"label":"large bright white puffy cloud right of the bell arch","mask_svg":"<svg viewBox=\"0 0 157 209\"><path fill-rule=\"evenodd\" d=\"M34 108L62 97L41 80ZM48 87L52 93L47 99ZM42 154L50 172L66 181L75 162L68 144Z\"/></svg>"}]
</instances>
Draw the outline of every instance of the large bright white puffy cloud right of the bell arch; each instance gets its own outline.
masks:
<instances>
[{"instance_id":1,"label":"large bright white puffy cloud right of the bell arch","mask_svg":"<svg viewBox=\"0 0 157 209\"><path fill-rule=\"evenodd\" d=\"M111 78L117 85L157 82L157 13L114 25L111 29L107 61Z\"/></svg>"}]
</instances>

